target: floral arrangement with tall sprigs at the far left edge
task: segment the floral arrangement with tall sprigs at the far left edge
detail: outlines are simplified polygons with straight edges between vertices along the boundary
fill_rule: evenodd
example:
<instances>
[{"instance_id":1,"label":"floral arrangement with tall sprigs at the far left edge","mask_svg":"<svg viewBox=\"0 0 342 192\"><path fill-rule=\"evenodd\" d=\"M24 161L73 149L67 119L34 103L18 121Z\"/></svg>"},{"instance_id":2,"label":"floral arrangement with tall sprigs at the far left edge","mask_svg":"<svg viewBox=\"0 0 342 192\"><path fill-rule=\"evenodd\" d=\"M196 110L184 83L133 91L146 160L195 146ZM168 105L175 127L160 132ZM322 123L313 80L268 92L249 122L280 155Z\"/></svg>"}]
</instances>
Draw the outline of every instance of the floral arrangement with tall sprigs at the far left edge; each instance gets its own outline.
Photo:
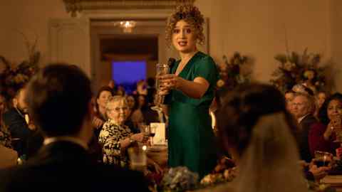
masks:
<instances>
[{"instance_id":1,"label":"floral arrangement with tall sprigs at the far left edge","mask_svg":"<svg viewBox=\"0 0 342 192\"><path fill-rule=\"evenodd\" d=\"M38 70L41 53L36 50L38 38L30 43L24 33L24 43L28 50L28 59L21 63L11 63L0 55L0 94L7 100L13 97L16 91L22 87Z\"/></svg>"}]
</instances>

